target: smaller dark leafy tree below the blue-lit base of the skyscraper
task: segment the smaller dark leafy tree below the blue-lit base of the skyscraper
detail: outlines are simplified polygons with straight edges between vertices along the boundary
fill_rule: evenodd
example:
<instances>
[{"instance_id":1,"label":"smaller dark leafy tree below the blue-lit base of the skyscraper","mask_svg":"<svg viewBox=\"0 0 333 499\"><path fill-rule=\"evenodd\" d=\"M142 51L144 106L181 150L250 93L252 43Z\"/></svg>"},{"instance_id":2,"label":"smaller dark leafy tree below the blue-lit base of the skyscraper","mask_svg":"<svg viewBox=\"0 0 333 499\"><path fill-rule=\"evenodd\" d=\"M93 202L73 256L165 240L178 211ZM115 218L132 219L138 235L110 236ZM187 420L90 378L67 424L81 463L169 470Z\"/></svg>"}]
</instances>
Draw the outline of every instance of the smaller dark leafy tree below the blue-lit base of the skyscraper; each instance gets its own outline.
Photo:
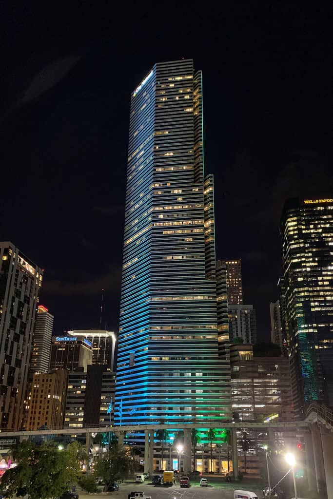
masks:
<instances>
[{"instance_id":1,"label":"smaller dark leafy tree below the blue-lit base of the skyscraper","mask_svg":"<svg viewBox=\"0 0 333 499\"><path fill-rule=\"evenodd\" d=\"M133 460L124 449L119 449L117 445L110 449L107 456L97 461L94 468L94 475L101 477L105 484L104 492L108 491L113 482L122 482L133 471Z\"/></svg>"}]
</instances>

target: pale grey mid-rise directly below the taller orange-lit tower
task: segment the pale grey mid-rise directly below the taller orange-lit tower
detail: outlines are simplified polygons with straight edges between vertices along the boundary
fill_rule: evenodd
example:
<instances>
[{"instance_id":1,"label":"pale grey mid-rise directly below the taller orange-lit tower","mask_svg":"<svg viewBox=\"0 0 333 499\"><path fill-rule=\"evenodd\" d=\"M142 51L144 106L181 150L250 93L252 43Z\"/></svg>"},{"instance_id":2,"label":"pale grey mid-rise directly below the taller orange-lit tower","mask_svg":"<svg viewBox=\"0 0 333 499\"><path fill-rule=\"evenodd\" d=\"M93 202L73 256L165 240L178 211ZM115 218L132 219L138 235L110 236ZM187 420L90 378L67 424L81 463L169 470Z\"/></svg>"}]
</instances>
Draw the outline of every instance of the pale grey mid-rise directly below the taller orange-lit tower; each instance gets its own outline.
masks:
<instances>
[{"instance_id":1,"label":"pale grey mid-rise directly below the taller orange-lit tower","mask_svg":"<svg viewBox=\"0 0 333 499\"><path fill-rule=\"evenodd\" d=\"M256 343L257 320L253 305L229 305L230 343L243 340L244 343Z\"/></svg>"}]
</instances>

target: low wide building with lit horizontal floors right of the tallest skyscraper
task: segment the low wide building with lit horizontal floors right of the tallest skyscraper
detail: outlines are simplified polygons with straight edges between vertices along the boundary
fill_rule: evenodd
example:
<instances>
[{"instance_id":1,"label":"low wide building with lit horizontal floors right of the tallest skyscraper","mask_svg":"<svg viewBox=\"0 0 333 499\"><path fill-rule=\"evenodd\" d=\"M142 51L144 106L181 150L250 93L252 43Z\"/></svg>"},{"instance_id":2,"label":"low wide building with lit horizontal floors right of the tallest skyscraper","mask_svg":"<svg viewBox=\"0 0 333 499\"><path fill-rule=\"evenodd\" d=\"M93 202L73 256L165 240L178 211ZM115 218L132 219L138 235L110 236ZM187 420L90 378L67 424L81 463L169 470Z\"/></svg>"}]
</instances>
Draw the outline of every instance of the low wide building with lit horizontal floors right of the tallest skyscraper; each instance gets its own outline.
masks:
<instances>
[{"instance_id":1,"label":"low wide building with lit horizontal floors right of the tallest skyscraper","mask_svg":"<svg viewBox=\"0 0 333 499\"><path fill-rule=\"evenodd\" d=\"M231 394L235 421L292 421L288 358L256 357L252 345L230 345Z\"/></svg>"}]
</instances>

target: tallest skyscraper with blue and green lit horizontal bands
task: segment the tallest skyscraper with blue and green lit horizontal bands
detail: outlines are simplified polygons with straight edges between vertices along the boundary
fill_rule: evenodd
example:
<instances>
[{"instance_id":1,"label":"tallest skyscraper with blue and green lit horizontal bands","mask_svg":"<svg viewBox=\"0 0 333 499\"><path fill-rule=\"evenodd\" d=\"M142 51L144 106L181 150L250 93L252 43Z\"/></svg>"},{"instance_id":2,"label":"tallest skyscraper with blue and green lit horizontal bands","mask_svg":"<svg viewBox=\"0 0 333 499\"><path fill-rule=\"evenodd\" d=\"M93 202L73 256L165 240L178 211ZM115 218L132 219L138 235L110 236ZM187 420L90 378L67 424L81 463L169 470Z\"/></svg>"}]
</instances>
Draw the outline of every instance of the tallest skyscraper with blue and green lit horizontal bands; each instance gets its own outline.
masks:
<instances>
[{"instance_id":1,"label":"tallest skyscraper with blue and green lit horizontal bands","mask_svg":"<svg viewBox=\"0 0 333 499\"><path fill-rule=\"evenodd\" d=\"M231 417L213 211L201 72L157 63L131 96L116 424Z\"/></svg>"}]
</instances>

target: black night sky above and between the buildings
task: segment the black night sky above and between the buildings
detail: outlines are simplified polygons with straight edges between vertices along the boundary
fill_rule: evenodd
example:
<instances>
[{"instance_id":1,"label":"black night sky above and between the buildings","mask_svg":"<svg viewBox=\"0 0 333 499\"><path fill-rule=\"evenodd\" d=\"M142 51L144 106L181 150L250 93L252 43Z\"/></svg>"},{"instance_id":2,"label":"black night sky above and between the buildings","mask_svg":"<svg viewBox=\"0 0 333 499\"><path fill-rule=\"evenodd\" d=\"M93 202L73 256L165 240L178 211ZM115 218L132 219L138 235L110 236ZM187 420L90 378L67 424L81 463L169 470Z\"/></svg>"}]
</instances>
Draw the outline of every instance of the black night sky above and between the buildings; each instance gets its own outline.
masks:
<instances>
[{"instance_id":1,"label":"black night sky above and between the buildings","mask_svg":"<svg viewBox=\"0 0 333 499\"><path fill-rule=\"evenodd\" d=\"M157 61L203 70L217 255L241 257L268 339L285 198L332 190L322 2L3 2L0 240L45 269L55 332L117 330L130 93ZM33 5L29 5L33 3Z\"/></svg>"}]
</instances>

